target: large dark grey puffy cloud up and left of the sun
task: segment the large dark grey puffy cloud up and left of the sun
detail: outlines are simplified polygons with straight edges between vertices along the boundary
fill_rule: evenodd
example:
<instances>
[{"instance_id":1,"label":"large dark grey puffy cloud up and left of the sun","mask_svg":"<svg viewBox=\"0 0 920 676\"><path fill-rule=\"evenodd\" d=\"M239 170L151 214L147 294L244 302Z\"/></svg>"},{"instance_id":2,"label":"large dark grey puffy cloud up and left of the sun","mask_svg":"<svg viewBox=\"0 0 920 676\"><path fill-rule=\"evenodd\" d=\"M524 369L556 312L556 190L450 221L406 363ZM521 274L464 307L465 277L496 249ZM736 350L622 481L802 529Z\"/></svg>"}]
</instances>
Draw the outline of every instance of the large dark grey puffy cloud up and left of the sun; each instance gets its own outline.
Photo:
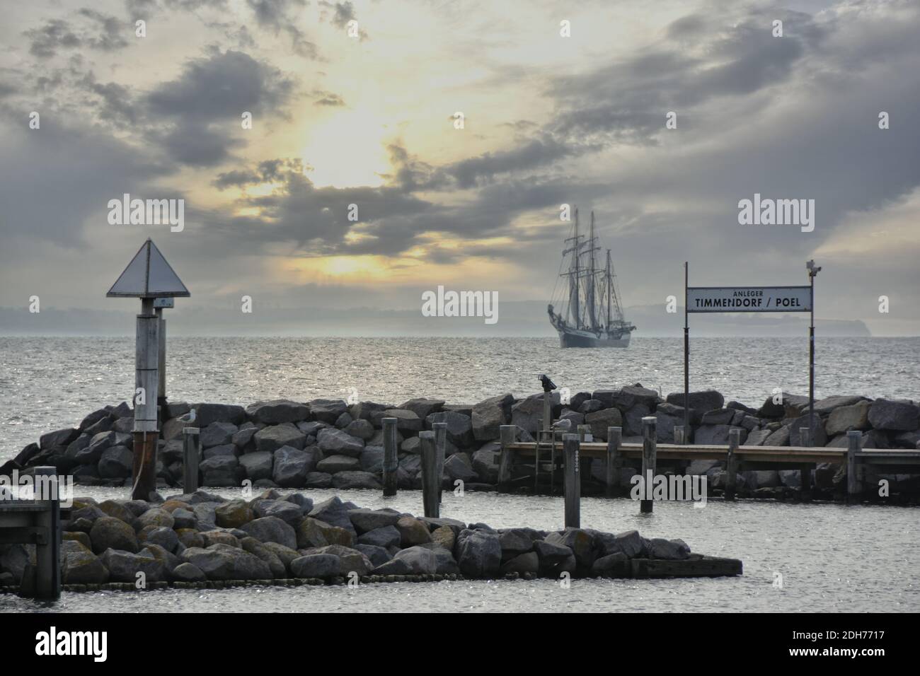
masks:
<instances>
[{"instance_id":1,"label":"large dark grey puffy cloud up and left of the sun","mask_svg":"<svg viewBox=\"0 0 920 676\"><path fill-rule=\"evenodd\" d=\"M164 119L152 132L178 162L215 166L242 143L237 130L244 112L253 117L285 114L293 80L244 52L213 52L186 64L178 79L144 97L147 112Z\"/></svg>"}]
</instances>

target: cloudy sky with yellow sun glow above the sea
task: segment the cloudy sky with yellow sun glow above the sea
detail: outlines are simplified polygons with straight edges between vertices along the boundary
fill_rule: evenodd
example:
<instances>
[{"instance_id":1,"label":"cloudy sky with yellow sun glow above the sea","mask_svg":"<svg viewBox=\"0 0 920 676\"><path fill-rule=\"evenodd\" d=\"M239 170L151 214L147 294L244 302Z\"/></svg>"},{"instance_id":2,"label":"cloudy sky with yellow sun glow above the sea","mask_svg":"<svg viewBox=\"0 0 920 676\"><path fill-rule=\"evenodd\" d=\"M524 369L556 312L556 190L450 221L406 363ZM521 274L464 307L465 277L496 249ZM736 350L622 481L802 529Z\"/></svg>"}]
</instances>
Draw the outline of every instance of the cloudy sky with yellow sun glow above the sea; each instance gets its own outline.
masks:
<instances>
[{"instance_id":1,"label":"cloudy sky with yellow sun glow above the sea","mask_svg":"<svg viewBox=\"0 0 920 676\"><path fill-rule=\"evenodd\" d=\"M2 6L0 306L133 311L105 292L147 236L178 303L254 319L439 284L546 302L570 203L627 306L663 313L684 260L740 285L816 258L819 317L920 335L914 0ZM109 224L123 193L184 199L184 230ZM814 231L739 224L754 193L813 199Z\"/></svg>"}]
</instances>

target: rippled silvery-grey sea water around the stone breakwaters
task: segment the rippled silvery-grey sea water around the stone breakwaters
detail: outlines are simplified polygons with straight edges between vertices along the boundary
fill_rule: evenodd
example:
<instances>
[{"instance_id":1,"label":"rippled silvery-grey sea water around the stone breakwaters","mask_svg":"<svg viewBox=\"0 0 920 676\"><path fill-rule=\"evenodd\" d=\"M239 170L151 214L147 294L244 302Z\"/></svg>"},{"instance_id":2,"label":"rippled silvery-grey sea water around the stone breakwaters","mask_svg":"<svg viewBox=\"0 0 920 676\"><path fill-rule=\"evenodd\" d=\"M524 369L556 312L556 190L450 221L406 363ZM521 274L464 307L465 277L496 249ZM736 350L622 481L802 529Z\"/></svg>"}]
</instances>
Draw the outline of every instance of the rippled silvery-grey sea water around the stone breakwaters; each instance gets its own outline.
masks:
<instances>
[{"instance_id":1,"label":"rippled silvery-grey sea water around the stone breakwaters","mask_svg":"<svg viewBox=\"0 0 920 676\"><path fill-rule=\"evenodd\" d=\"M691 386L759 404L774 387L808 391L807 341L699 338ZM553 339L176 338L168 342L172 400L248 404L346 397L399 404L412 396L470 403L532 394L548 372L572 392L641 382L683 388L683 342L637 338L629 349L558 349ZM48 430L131 398L132 338L0 338L0 462ZM817 395L920 398L920 339L829 338L817 343ZM98 498L126 490L78 488ZM234 491L222 489L226 496ZM332 491L311 491L314 498ZM420 513L421 496L342 491L366 507ZM491 526L556 529L561 498L445 494L443 516ZM627 499L583 498L582 525L681 537L696 552L744 562L734 579L551 580L65 593L56 610L86 611L918 611L920 511L829 504L711 500L703 509L659 503L640 516ZM775 581L782 576L782 587ZM0 611L43 607L0 595Z\"/></svg>"}]
</instances>

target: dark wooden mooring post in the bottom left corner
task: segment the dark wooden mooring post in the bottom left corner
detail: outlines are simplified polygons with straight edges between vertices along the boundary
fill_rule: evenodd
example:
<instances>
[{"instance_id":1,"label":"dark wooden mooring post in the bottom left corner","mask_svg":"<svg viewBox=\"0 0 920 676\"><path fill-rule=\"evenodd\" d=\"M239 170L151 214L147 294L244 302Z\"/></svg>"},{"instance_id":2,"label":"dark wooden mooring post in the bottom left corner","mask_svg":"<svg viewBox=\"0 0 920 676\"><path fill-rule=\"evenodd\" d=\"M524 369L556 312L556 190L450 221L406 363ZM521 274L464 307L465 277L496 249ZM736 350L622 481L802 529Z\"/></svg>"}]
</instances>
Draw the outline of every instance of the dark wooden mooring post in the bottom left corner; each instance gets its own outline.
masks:
<instances>
[{"instance_id":1,"label":"dark wooden mooring post in the bottom left corner","mask_svg":"<svg viewBox=\"0 0 920 676\"><path fill-rule=\"evenodd\" d=\"M36 517L42 529L35 545L35 598L61 598L61 498L56 467L35 468L35 499L44 505Z\"/></svg>"}]
</instances>

